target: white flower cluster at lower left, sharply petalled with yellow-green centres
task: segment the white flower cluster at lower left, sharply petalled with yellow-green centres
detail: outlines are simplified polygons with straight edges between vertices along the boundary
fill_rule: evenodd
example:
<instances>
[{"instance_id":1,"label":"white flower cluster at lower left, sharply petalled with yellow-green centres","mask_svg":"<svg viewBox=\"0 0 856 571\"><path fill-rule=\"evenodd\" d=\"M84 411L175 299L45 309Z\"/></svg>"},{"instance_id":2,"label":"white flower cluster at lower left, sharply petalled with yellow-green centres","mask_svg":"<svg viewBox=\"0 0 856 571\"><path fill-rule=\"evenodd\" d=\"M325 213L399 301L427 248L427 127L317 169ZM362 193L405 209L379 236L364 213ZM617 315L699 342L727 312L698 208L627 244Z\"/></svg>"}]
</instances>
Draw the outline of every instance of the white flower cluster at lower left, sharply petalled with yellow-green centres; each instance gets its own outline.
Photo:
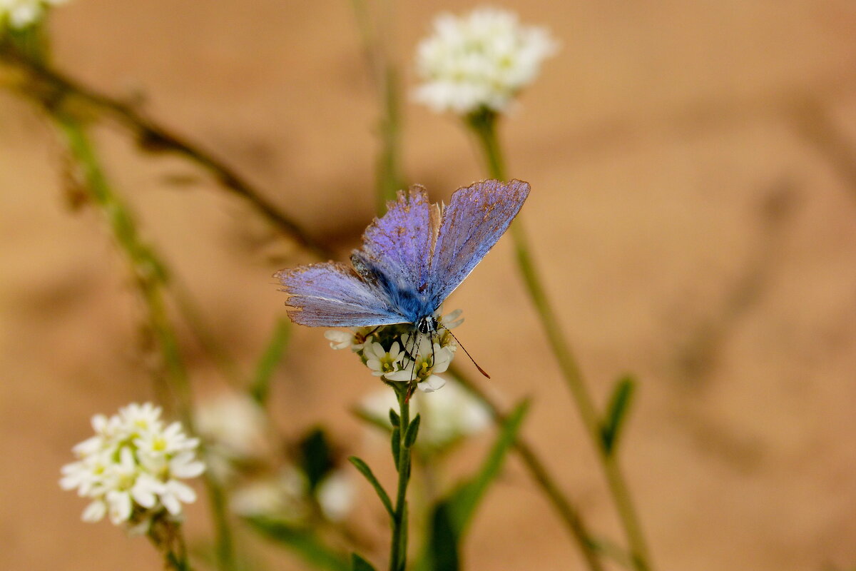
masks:
<instances>
[{"instance_id":1,"label":"white flower cluster at lower left, sharply petalled with yellow-green centres","mask_svg":"<svg viewBox=\"0 0 856 571\"><path fill-rule=\"evenodd\" d=\"M196 460L198 438L189 438L181 423L164 425L161 409L129 404L107 418L92 417L95 436L74 446L78 460L62 467L60 486L77 489L92 499L83 510L84 521L110 520L146 525L152 516L181 514L181 504L195 501L196 493L181 479L205 471Z\"/></svg>"}]
</instances>

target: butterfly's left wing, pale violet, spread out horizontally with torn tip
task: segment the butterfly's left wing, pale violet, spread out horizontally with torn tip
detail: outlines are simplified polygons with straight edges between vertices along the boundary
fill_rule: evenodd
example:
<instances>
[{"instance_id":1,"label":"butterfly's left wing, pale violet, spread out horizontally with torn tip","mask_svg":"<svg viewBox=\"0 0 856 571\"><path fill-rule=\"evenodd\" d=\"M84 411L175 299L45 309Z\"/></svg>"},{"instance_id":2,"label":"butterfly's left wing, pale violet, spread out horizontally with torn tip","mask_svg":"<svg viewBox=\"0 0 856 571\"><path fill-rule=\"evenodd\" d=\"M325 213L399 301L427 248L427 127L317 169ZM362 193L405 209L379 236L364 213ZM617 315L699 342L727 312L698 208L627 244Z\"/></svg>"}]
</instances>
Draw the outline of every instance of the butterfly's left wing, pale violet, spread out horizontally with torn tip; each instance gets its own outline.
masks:
<instances>
[{"instance_id":1,"label":"butterfly's left wing, pale violet, spread out horizontally with torn tip","mask_svg":"<svg viewBox=\"0 0 856 571\"><path fill-rule=\"evenodd\" d=\"M382 291L348 265L326 262L301 265L274 275L290 294L288 317L312 327L367 327L407 321Z\"/></svg>"}]
</instances>

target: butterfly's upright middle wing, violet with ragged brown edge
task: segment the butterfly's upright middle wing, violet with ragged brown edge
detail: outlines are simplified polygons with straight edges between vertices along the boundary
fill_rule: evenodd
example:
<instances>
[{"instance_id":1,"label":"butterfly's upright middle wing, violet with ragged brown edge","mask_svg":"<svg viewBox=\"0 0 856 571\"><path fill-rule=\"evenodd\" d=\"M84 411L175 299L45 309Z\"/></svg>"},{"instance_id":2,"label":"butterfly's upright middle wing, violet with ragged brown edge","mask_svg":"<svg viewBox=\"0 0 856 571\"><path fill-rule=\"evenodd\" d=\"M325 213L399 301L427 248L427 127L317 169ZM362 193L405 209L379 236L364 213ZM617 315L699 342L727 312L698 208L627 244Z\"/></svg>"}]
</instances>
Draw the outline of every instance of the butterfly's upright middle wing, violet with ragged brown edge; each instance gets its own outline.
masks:
<instances>
[{"instance_id":1,"label":"butterfly's upright middle wing, violet with ragged brown edge","mask_svg":"<svg viewBox=\"0 0 856 571\"><path fill-rule=\"evenodd\" d=\"M389 201L383 217L375 218L354 250L354 269L377 286L389 304L413 323L423 317L431 289L431 253L440 213L424 187L401 191Z\"/></svg>"}]
</instances>

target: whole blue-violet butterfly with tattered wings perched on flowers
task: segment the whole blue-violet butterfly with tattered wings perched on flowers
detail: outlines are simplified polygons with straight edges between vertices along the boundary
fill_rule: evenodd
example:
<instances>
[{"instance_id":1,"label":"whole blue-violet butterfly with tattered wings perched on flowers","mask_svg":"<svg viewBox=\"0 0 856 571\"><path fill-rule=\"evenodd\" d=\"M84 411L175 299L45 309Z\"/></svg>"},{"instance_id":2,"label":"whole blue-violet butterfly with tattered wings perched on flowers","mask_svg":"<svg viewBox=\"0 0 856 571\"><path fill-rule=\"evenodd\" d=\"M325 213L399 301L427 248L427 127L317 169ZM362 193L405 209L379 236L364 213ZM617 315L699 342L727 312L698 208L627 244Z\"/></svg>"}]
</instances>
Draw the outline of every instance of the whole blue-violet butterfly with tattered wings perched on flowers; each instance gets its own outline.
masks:
<instances>
[{"instance_id":1,"label":"whole blue-violet butterfly with tattered wings perched on flowers","mask_svg":"<svg viewBox=\"0 0 856 571\"><path fill-rule=\"evenodd\" d=\"M313 327L413 324L437 334L437 311L517 216L529 183L479 181L431 204L425 187L399 191L363 235L351 265L301 265L276 272L288 317ZM486 374L486 373L485 373Z\"/></svg>"}]
</instances>

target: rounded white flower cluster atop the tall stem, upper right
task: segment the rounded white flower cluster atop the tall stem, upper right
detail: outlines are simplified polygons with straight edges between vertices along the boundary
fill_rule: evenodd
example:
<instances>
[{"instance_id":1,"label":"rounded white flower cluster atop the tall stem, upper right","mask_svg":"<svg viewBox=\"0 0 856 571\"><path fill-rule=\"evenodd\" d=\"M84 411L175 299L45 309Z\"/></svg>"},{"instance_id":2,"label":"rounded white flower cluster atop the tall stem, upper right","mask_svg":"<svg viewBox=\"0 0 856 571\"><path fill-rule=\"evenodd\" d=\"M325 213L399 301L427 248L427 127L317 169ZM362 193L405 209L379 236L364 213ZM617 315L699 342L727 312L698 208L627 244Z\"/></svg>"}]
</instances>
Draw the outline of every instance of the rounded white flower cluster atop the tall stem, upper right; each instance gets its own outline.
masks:
<instances>
[{"instance_id":1,"label":"rounded white flower cluster atop the tall stem, upper right","mask_svg":"<svg viewBox=\"0 0 856 571\"><path fill-rule=\"evenodd\" d=\"M437 112L502 111L557 49L544 28L522 26L512 12L439 15L433 35L417 47L416 71L424 83L414 95Z\"/></svg>"}]
</instances>

